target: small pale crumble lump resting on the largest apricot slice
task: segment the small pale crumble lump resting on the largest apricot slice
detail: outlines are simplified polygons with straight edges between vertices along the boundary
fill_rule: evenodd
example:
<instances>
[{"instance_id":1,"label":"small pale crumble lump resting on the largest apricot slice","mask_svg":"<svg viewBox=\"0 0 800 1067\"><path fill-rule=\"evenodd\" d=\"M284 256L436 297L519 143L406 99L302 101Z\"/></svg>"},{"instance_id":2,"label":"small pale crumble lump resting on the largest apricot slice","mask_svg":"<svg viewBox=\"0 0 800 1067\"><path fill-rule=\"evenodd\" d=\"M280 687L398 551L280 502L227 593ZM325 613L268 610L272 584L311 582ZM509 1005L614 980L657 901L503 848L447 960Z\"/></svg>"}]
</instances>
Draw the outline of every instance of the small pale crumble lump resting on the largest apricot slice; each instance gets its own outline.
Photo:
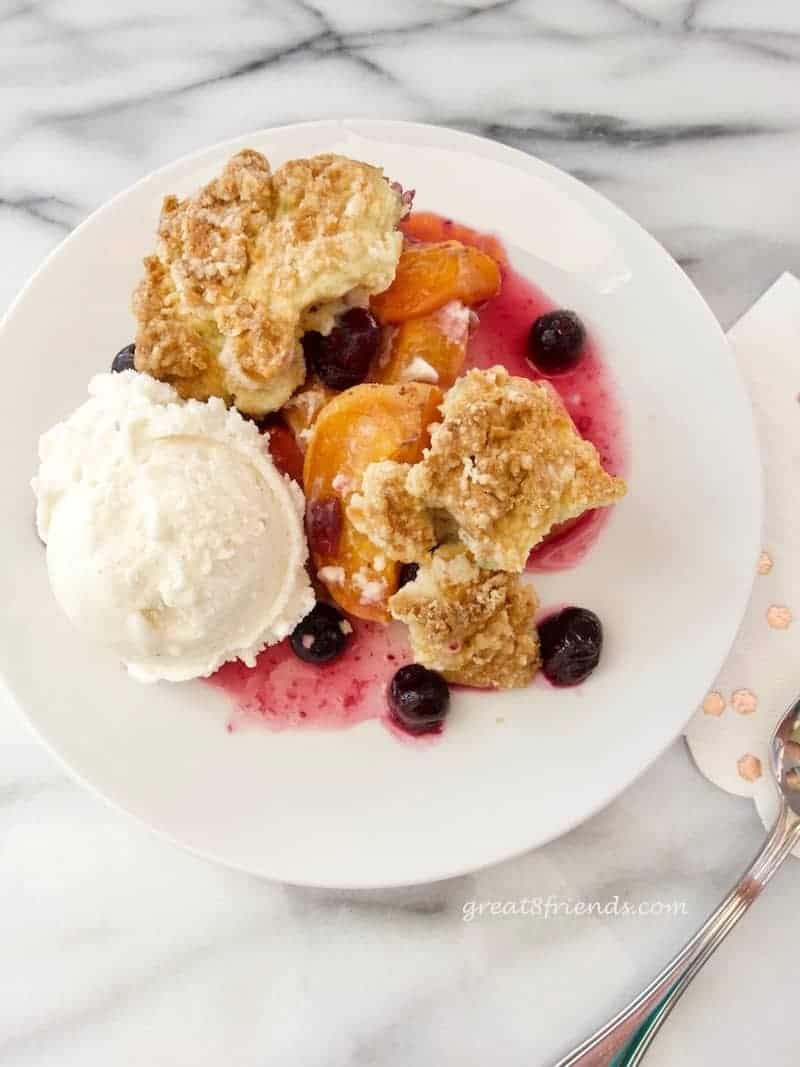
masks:
<instances>
[{"instance_id":1,"label":"small pale crumble lump resting on the largest apricot slice","mask_svg":"<svg viewBox=\"0 0 800 1067\"><path fill-rule=\"evenodd\" d=\"M431 512L405 488L411 466L383 460L370 463L361 492L350 497L347 515L355 528L390 559L419 562L436 544Z\"/></svg>"}]
</instances>

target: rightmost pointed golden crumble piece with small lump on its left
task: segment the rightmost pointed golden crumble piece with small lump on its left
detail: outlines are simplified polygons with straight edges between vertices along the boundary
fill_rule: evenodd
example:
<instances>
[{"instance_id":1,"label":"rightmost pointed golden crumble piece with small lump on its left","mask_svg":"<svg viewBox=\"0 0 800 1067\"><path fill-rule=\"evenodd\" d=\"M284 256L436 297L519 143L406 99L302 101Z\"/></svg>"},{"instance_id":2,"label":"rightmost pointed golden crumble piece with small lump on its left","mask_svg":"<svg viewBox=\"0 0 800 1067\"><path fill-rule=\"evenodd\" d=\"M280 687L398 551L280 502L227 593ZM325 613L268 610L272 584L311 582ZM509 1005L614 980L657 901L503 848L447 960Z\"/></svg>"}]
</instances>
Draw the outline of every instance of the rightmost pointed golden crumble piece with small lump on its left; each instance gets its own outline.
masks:
<instances>
[{"instance_id":1,"label":"rightmost pointed golden crumble piece with small lump on its left","mask_svg":"<svg viewBox=\"0 0 800 1067\"><path fill-rule=\"evenodd\" d=\"M351 517L394 559L419 561L433 525L446 540L444 516L481 567L522 571L555 525L625 494L546 384L502 367L470 370L442 413L419 463L365 473Z\"/></svg>"}]
</instances>

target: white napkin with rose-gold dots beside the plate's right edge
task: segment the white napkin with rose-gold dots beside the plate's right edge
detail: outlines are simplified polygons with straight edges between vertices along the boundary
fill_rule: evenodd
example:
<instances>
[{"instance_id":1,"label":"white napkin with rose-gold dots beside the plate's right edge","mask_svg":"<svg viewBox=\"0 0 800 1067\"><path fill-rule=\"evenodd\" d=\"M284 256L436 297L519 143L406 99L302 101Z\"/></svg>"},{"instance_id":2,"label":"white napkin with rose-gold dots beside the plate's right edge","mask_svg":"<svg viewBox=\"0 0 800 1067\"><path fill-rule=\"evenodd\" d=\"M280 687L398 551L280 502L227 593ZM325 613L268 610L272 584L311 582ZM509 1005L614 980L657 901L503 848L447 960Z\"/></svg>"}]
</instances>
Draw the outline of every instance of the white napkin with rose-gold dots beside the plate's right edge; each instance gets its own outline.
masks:
<instances>
[{"instance_id":1,"label":"white napkin with rose-gold dots beside the plate's right edge","mask_svg":"<svg viewBox=\"0 0 800 1067\"><path fill-rule=\"evenodd\" d=\"M763 551L734 647L686 739L705 777L752 797L766 826L778 810L769 737L800 695L800 281L782 275L729 339L750 389L762 448Z\"/></svg>"}]
</instances>

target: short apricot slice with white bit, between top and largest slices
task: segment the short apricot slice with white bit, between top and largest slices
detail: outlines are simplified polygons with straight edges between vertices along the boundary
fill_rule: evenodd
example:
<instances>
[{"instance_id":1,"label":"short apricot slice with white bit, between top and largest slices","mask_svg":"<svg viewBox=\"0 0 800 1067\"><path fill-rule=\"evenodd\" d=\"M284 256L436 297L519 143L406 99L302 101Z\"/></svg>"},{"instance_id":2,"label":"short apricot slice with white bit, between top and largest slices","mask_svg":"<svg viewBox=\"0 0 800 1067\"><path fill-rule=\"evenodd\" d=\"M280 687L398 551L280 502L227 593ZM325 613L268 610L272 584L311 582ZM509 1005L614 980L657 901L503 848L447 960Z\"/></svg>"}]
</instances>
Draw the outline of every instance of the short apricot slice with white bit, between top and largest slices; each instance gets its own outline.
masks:
<instances>
[{"instance_id":1,"label":"short apricot slice with white bit, between top and largest slices","mask_svg":"<svg viewBox=\"0 0 800 1067\"><path fill-rule=\"evenodd\" d=\"M432 315L407 319L394 331L370 368L375 382L430 382L449 389L466 357L470 312L458 301Z\"/></svg>"}]
</instances>

